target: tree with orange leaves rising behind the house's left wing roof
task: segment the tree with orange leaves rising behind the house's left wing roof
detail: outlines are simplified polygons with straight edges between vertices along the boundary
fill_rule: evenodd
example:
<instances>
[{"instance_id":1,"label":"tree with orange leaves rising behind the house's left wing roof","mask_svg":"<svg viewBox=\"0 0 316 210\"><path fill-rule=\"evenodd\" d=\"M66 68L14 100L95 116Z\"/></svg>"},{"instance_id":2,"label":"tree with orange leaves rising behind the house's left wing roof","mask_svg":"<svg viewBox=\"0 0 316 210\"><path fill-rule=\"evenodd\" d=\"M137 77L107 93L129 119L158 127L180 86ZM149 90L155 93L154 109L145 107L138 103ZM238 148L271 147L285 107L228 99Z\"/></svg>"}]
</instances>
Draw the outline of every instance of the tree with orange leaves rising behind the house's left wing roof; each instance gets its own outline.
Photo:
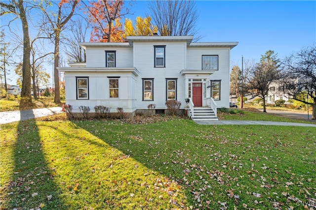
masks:
<instances>
[{"instance_id":1,"label":"tree with orange leaves rising behind the house's left wing roof","mask_svg":"<svg viewBox=\"0 0 316 210\"><path fill-rule=\"evenodd\" d=\"M89 1L82 3L88 10L89 21L92 24L91 42L122 42L124 31L120 23L121 17L129 14L129 9L123 11L123 0Z\"/></svg>"}]
</instances>

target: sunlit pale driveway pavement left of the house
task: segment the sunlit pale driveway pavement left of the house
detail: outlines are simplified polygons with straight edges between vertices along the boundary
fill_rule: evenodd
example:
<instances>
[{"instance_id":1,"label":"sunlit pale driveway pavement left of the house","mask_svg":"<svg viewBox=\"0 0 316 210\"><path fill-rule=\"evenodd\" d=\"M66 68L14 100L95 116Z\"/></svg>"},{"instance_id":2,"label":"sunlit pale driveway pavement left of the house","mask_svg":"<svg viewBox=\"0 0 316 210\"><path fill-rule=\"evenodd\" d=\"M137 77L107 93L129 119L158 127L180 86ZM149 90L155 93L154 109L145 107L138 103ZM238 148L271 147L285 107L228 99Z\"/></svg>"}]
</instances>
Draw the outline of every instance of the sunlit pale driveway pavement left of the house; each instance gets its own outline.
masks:
<instances>
[{"instance_id":1,"label":"sunlit pale driveway pavement left of the house","mask_svg":"<svg viewBox=\"0 0 316 210\"><path fill-rule=\"evenodd\" d=\"M62 113L61 110L61 107L49 107L22 111L0 112L0 124L54 115Z\"/></svg>"}]
</instances>

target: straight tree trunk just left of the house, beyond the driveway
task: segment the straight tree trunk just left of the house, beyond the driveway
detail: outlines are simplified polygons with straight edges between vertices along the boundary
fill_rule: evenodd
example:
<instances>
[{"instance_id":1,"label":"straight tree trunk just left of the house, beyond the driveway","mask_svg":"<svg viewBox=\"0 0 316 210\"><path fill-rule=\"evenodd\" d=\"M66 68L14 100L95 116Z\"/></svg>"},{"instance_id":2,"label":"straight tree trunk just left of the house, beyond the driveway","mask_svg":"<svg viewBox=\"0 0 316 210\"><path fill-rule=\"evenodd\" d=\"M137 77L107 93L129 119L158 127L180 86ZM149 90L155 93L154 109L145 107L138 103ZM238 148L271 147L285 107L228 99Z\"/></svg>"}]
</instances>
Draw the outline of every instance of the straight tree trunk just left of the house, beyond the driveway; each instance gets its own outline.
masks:
<instances>
[{"instance_id":1,"label":"straight tree trunk just left of the house, beyond the driveway","mask_svg":"<svg viewBox=\"0 0 316 210\"><path fill-rule=\"evenodd\" d=\"M55 83L55 97L54 102L60 103L60 89L59 89L59 72L57 67L59 67L59 32L55 33L55 51L54 51L54 83Z\"/></svg>"}]
</instances>

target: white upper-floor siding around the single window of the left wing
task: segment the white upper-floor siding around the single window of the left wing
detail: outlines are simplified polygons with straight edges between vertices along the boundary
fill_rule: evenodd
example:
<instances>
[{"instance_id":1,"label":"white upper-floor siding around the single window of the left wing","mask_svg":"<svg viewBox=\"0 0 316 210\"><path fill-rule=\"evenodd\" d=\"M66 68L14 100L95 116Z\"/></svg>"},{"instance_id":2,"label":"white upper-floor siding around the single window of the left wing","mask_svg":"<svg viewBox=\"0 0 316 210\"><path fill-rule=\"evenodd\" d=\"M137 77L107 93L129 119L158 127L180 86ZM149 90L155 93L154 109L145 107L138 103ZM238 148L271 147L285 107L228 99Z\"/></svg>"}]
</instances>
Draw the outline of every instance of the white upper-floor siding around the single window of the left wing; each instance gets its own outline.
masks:
<instances>
[{"instance_id":1,"label":"white upper-floor siding around the single window of the left wing","mask_svg":"<svg viewBox=\"0 0 316 210\"><path fill-rule=\"evenodd\" d=\"M86 66L87 67L105 67L105 51L116 51L116 67L133 66L133 48L132 47L87 47Z\"/></svg>"}]
</instances>

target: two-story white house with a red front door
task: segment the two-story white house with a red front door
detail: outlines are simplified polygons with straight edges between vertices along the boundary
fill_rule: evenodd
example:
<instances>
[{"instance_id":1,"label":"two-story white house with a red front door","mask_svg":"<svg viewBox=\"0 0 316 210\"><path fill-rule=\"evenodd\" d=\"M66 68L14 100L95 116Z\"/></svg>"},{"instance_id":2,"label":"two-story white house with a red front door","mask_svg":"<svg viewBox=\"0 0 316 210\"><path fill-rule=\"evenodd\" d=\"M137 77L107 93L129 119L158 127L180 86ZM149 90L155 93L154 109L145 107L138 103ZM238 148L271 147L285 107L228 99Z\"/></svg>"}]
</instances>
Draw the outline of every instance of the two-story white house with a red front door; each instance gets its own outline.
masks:
<instances>
[{"instance_id":1,"label":"two-story white house with a red front door","mask_svg":"<svg viewBox=\"0 0 316 210\"><path fill-rule=\"evenodd\" d=\"M65 72L66 104L103 105L112 113L166 110L176 99L182 110L229 107L230 50L238 42L192 42L193 36L127 36L127 42L82 42L86 63L59 67ZM186 103L189 98L189 103ZM192 103L193 102L193 103ZM215 102L215 103L214 103ZM197 113L197 112L196 112ZM191 116L192 117L192 116Z\"/></svg>"}]
</instances>

